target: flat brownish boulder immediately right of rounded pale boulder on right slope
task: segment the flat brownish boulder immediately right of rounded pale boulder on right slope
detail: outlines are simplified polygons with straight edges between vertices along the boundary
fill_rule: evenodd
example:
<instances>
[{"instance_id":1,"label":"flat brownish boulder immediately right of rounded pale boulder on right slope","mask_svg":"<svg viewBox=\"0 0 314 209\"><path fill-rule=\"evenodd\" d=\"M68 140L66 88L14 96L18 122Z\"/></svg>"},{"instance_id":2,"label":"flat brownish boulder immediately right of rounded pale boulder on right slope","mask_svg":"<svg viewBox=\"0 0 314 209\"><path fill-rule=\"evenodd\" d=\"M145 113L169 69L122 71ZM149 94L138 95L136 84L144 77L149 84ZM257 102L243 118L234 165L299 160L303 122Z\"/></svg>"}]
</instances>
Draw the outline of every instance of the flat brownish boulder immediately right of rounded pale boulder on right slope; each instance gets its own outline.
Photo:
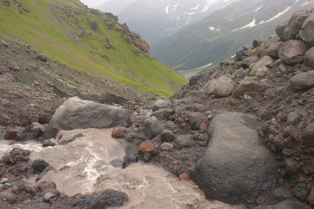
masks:
<instances>
[{"instance_id":1,"label":"flat brownish boulder immediately right of rounded pale boulder on right slope","mask_svg":"<svg viewBox=\"0 0 314 209\"><path fill-rule=\"evenodd\" d=\"M233 96L240 98L246 91L264 92L273 88L272 85L259 83L253 80L243 80L240 85L233 91Z\"/></svg>"}]
</instances>

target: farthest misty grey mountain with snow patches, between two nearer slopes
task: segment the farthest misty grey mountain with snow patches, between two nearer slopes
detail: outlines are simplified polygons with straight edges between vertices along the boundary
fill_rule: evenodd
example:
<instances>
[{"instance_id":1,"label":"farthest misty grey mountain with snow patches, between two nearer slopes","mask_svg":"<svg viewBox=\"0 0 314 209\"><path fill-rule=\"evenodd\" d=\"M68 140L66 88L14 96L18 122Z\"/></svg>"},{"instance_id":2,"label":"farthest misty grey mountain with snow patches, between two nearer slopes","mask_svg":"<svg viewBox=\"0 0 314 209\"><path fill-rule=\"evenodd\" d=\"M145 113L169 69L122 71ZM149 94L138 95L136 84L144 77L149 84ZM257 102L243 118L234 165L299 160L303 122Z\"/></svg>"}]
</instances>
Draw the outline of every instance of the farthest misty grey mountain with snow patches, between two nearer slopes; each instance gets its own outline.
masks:
<instances>
[{"instance_id":1,"label":"farthest misty grey mountain with snow patches, between two nearer slopes","mask_svg":"<svg viewBox=\"0 0 314 209\"><path fill-rule=\"evenodd\" d=\"M154 45L213 11L239 0L110 0L97 7L118 15L131 30Z\"/></svg>"}]
</instances>

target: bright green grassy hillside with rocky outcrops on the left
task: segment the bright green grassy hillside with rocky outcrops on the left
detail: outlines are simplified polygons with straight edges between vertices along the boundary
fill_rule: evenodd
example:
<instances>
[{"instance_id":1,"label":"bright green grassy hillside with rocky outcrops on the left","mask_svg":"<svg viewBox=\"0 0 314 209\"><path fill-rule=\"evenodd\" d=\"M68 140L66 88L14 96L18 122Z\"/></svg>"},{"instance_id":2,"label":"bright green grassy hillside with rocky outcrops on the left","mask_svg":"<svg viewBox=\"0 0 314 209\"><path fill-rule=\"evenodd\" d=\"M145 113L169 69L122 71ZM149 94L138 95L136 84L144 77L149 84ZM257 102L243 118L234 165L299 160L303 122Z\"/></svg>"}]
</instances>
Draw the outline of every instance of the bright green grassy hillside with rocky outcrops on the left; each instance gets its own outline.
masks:
<instances>
[{"instance_id":1,"label":"bright green grassy hillside with rocky outcrops on the left","mask_svg":"<svg viewBox=\"0 0 314 209\"><path fill-rule=\"evenodd\" d=\"M0 37L38 47L69 67L165 96L186 82L154 60L148 44L116 16L78 0L5 0L0 13Z\"/></svg>"}]
</instances>

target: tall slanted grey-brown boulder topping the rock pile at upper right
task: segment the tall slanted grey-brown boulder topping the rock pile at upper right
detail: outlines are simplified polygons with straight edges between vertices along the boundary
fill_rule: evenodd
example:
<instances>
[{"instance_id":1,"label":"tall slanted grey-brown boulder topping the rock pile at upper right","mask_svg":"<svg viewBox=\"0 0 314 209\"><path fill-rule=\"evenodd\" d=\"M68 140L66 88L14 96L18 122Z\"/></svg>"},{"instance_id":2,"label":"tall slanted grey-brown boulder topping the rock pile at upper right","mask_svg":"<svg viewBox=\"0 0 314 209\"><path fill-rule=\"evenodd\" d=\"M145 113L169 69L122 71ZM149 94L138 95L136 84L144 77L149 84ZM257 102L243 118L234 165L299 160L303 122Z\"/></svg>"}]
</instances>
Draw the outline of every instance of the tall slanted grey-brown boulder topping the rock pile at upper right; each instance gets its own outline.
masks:
<instances>
[{"instance_id":1,"label":"tall slanted grey-brown boulder topping the rock pile at upper right","mask_svg":"<svg viewBox=\"0 0 314 209\"><path fill-rule=\"evenodd\" d=\"M306 18L308 18L312 14L313 11L314 9L307 8L307 9L302 9L293 13L287 26L284 29L285 41L295 39L295 36L299 34L299 30L301 29L303 22L305 21Z\"/></svg>"}]
</instances>

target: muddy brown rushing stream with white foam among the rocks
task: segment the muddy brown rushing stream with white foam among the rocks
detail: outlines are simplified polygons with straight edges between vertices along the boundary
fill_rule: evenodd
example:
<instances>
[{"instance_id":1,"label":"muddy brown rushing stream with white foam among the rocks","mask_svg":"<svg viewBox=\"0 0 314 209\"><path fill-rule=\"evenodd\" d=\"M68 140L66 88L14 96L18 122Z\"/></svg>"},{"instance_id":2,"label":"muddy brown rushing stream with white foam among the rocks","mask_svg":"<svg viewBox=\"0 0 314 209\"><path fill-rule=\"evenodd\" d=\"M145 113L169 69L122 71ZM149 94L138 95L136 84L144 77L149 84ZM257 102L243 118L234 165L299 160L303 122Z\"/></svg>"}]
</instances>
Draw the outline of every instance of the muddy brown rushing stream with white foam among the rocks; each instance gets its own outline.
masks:
<instances>
[{"instance_id":1,"label":"muddy brown rushing stream with white foam among the rocks","mask_svg":"<svg viewBox=\"0 0 314 209\"><path fill-rule=\"evenodd\" d=\"M179 181L177 177L144 162L137 162L127 168L115 168L111 161L123 161L126 144L111 137L112 129L77 129L65 131L63 137L81 133L83 137L66 145L41 147L42 144L27 141L14 144L12 140L0 141L3 156L14 147L31 151L30 159L43 159L58 172L49 171L44 180L56 183L57 189L66 195L76 193L99 195L107 189L125 192L129 202L123 209L244 209L219 201L208 201L202 190L193 181ZM61 139L62 140L62 139ZM63 166L68 166L59 171ZM24 179L35 184L37 176Z\"/></svg>"}]
</instances>

